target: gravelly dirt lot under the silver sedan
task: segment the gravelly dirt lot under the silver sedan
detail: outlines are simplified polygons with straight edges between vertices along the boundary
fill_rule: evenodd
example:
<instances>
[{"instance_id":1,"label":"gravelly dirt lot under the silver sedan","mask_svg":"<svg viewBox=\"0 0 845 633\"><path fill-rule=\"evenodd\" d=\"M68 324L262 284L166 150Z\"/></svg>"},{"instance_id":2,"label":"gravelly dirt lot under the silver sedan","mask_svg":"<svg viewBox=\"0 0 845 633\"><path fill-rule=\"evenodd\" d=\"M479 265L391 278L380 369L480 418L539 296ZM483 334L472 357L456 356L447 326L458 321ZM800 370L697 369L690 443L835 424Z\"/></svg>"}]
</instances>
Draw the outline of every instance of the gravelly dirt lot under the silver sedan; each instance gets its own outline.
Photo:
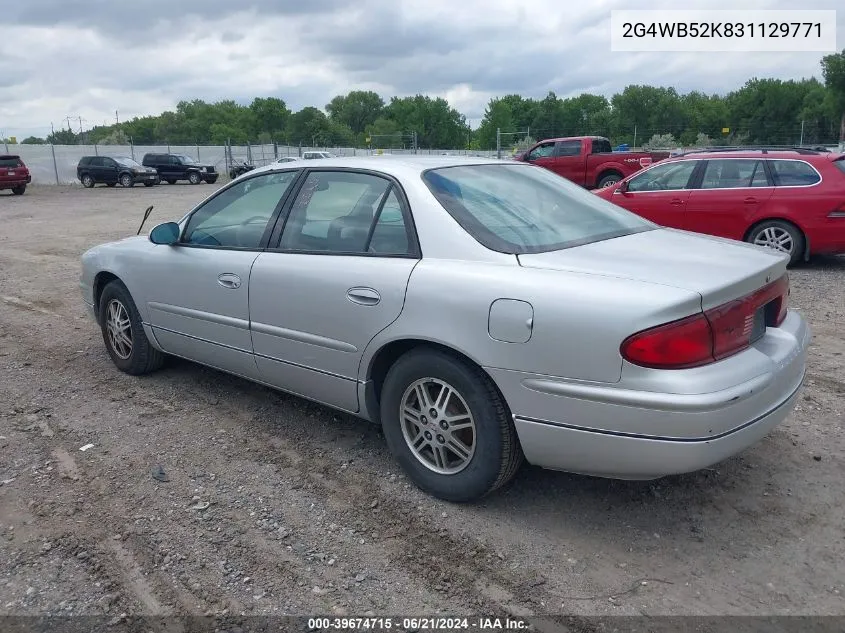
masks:
<instances>
[{"instance_id":1,"label":"gravelly dirt lot under the silver sedan","mask_svg":"<svg viewBox=\"0 0 845 633\"><path fill-rule=\"evenodd\" d=\"M657 482L526 467L456 506L372 425L187 362L114 368L79 255L212 190L0 194L0 614L845 614L845 258L792 273L809 376L759 445Z\"/></svg>"}]
</instances>

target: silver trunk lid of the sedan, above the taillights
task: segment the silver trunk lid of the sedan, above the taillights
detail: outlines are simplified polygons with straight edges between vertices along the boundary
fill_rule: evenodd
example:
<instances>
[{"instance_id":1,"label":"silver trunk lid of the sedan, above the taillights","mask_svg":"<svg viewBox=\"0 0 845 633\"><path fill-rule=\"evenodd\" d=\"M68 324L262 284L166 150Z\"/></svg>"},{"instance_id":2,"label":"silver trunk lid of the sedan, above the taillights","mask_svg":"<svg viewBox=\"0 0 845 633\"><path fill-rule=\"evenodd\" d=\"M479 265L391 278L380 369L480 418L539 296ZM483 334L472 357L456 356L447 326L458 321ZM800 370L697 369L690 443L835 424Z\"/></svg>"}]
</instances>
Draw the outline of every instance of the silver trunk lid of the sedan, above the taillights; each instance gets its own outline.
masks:
<instances>
[{"instance_id":1,"label":"silver trunk lid of the sedan, above the taillights","mask_svg":"<svg viewBox=\"0 0 845 633\"><path fill-rule=\"evenodd\" d=\"M762 288L786 272L781 253L728 240L655 229L548 253L521 254L527 268L565 270L672 286L697 292L702 309Z\"/></svg>"}]
</instances>

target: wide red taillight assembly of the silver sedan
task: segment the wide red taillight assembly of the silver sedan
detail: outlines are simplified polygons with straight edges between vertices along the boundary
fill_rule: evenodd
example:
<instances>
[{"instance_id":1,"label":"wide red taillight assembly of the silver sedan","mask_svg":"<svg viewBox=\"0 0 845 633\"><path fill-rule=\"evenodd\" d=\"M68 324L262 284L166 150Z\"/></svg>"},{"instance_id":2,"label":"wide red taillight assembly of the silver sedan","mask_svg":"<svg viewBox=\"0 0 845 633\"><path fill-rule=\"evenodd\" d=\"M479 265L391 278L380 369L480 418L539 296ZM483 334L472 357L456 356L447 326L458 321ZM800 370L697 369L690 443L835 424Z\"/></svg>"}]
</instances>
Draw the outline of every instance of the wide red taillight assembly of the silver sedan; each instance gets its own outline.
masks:
<instances>
[{"instance_id":1,"label":"wide red taillight assembly of the silver sedan","mask_svg":"<svg viewBox=\"0 0 845 633\"><path fill-rule=\"evenodd\" d=\"M707 312L672 321L629 336L622 357L653 369L687 369L727 358L751 345L754 318L759 308L766 327L786 318L789 278L784 275L740 299Z\"/></svg>"}]
</instances>

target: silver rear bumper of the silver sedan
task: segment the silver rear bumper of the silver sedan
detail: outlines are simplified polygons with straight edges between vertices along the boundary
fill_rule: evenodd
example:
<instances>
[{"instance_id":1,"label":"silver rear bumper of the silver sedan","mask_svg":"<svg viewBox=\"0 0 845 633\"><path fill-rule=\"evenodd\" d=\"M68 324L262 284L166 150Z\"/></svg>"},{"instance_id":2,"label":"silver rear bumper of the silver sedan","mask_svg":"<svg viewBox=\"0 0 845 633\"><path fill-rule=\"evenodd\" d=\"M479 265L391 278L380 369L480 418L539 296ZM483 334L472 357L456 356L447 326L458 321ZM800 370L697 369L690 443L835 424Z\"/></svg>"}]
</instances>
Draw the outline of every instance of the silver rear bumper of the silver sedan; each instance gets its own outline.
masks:
<instances>
[{"instance_id":1,"label":"silver rear bumper of the silver sedan","mask_svg":"<svg viewBox=\"0 0 845 633\"><path fill-rule=\"evenodd\" d=\"M529 463L600 477L655 479L718 463L780 424L803 383L809 341L806 322L790 312L780 328L737 355L746 358L697 368L691 375L699 387L683 393L681 372L693 370L672 372L662 391L488 371L513 413ZM726 384L726 376L741 375L740 365L753 370ZM718 389L708 388L720 383Z\"/></svg>"}]
</instances>

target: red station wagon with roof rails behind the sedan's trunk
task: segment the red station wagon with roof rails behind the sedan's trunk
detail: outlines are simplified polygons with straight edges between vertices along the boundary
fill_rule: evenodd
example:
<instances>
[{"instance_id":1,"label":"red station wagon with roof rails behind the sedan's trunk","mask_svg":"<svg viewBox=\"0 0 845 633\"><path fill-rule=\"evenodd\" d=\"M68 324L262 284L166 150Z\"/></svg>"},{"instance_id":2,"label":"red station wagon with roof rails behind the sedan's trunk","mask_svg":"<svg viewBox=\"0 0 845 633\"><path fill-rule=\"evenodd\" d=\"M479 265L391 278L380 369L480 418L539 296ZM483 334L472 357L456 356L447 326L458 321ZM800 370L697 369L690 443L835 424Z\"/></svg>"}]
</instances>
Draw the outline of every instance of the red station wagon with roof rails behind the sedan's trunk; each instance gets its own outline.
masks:
<instances>
[{"instance_id":1,"label":"red station wagon with roof rails behind the sedan's trunk","mask_svg":"<svg viewBox=\"0 0 845 633\"><path fill-rule=\"evenodd\" d=\"M699 151L596 195L663 226L774 248L793 264L817 253L845 253L843 154Z\"/></svg>"}]
</instances>

